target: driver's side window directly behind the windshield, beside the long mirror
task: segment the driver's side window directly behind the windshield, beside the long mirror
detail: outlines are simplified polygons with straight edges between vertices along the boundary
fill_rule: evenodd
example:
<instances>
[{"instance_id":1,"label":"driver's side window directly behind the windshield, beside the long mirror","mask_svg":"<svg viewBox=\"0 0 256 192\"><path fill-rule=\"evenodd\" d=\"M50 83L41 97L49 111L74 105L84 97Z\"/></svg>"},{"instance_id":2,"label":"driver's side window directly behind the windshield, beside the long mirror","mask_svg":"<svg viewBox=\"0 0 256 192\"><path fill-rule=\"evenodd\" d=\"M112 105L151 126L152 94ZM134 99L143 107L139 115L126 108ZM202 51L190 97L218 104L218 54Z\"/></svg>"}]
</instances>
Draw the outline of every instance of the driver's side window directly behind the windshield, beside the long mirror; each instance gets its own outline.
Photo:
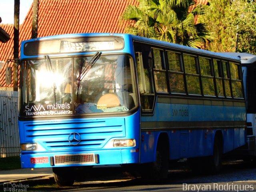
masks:
<instances>
[{"instance_id":1,"label":"driver's side window directly behind the windshield, beside the long mirror","mask_svg":"<svg viewBox=\"0 0 256 192\"><path fill-rule=\"evenodd\" d=\"M146 57L145 57L146 58ZM136 52L136 68L138 74L140 102L142 111L151 112L154 108L154 93L152 89L152 78L150 68L144 67L146 60L142 60L142 53Z\"/></svg>"}]
</instances>

